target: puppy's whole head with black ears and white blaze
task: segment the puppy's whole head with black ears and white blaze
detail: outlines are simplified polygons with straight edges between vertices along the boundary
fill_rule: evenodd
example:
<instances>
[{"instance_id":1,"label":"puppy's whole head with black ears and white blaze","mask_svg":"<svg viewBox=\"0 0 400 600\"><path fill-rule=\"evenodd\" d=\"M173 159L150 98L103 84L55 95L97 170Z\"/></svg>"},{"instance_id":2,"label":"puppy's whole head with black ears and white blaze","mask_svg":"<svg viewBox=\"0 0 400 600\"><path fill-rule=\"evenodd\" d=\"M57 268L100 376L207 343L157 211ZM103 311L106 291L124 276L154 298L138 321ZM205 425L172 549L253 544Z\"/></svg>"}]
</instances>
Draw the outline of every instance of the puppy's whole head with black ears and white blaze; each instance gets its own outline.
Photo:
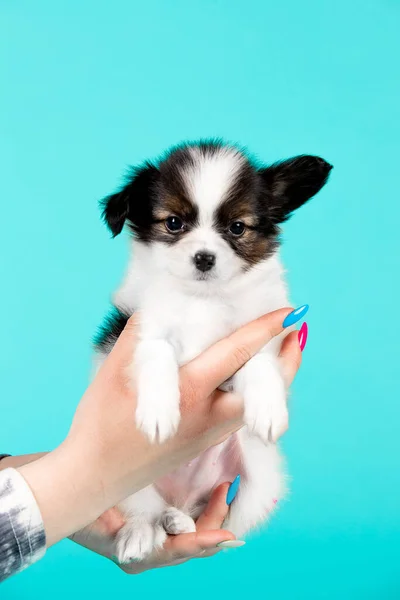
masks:
<instances>
[{"instance_id":1,"label":"puppy's whole head with black ears and white blaze","mask_svg":"<svg viewBox=\"0 0 400 600\"><path fill-rule=\"evenodd\" d=\"M114 236L126 222L170 275L230 281L274 252L279 224L322 188L331 168L315 156L264 167L220 142L182 145L133 169L103 200L103 217Z\"/></svg>"}]
</instances>

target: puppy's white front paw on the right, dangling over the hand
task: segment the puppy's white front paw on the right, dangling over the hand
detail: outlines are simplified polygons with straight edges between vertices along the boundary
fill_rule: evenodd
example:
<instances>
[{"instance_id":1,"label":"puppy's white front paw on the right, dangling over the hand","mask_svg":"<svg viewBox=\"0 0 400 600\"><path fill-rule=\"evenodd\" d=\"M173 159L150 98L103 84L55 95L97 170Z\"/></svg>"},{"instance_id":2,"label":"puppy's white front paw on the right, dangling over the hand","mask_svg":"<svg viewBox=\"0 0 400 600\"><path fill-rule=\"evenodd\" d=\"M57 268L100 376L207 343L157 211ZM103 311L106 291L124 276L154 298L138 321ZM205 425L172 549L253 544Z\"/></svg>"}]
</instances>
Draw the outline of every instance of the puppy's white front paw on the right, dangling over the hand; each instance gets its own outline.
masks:
<instances>
[{"instance_id":1,"label":"puppy's white front paw on the right, dangling over the hand","mask_svg":"<svg viewBox=\"0 0 400 600\"><path fill-rule=\"evenodd\" d=\"M243 389L244 421L264 443L276 442L288 428L286 390L279 373L246 382Z\"/></svg>"}]
</instances>

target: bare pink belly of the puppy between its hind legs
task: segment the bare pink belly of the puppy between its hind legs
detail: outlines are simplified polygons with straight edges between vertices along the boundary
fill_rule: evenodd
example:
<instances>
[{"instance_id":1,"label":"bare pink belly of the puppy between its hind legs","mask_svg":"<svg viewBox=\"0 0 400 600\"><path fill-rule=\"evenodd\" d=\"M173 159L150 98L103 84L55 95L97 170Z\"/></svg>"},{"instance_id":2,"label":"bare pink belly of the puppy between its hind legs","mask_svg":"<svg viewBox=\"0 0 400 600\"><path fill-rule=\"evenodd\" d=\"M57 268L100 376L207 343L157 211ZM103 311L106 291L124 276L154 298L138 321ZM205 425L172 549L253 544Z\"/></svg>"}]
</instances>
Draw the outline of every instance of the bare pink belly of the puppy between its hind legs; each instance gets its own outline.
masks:
<instances>
[{"instance_id":1,"label":"bare pink belly of the puppy between its hind legs","mask_svg":"<svg viewBox=\"0 0 400 600\"><path fill-rule=\"evenodd\" d=\"M242 472L240 443L237 434L234 434L159 479L156 487L168 504L192 514L208 501L215 487L233 481Z\"/></svg>"}]
</instances>

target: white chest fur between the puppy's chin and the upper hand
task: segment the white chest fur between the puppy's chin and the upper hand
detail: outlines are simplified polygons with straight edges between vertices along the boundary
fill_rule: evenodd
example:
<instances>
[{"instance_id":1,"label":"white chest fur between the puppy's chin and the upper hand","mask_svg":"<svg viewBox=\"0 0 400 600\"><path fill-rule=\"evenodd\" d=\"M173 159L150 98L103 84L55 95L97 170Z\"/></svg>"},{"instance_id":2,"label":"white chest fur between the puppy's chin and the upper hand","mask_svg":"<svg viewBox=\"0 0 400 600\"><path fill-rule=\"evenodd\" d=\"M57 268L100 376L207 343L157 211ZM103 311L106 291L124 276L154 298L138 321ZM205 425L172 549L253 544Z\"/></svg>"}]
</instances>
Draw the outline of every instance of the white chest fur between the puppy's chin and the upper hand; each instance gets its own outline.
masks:
<instances>
[{"instance_id":1,"label":"white chest fur between the puppy's chin and the upper hand","mask_svg":"<svg viewBox=\"0 0 400 600\"><path fill-rule=\"evenodd\" d=\"M241 325L288 303L276 255L242 275L239 282L226 285L195 282L189 287L154 270L139 246L115 303L129 311L140 310L142 337L168 340L180 365Z\"/></svg>"}]
</instances>

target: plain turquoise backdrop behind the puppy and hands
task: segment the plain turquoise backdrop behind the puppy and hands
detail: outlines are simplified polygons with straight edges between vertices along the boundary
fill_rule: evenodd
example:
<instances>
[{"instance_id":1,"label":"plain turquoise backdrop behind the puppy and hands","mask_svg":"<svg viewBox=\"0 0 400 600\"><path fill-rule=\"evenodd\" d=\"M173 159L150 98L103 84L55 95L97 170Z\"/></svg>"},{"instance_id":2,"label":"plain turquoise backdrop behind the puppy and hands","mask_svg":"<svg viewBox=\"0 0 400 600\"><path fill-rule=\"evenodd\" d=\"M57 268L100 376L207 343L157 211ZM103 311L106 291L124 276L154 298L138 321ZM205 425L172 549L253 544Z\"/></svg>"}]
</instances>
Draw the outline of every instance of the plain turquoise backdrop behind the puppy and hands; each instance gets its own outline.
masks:
<instances>
[{"instance_id":1,"label":"plain turquoise backdrop behind the puppy and hands","mask_svg":"<svg viewBox=\"0 0 400 600\"><path fill-rule=\"evenodd\" d=\"M66 541L0 597L399 598L400 3L1 0L0 18L0 451L67 432L126 259L97 200L127 164L221 135L335 166L285 227L310 335L270 526L133 578Z\"/></svg>"}]
</instances>

